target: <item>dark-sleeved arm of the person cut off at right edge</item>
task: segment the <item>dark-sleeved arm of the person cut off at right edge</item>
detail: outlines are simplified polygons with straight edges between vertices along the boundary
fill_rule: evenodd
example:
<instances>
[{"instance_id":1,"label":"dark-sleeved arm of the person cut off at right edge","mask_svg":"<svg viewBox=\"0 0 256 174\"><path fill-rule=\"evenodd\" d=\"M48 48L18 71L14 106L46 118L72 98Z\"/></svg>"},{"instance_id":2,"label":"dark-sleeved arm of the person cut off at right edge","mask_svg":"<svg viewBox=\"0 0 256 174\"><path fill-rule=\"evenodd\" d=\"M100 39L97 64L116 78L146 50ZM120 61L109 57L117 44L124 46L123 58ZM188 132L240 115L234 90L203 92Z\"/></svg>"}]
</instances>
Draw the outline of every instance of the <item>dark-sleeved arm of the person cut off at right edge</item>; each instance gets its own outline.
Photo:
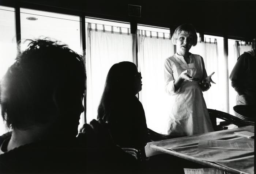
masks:
<instances>
[{"instance_id":1,"label":"dark-sleeved arm of the person cut off at right edge","mask_svg":"<svg viewBox=\"0 0 256 174\"><path fill-rule=\"evenodd\" d=\"M246 55L242 54L238 57L236 65L230 73L229 79L231 80L231 86L236 92L241 95L244 93L243 78L245 78L244 72L247 68Z\"/></svg>"}]
</instances>

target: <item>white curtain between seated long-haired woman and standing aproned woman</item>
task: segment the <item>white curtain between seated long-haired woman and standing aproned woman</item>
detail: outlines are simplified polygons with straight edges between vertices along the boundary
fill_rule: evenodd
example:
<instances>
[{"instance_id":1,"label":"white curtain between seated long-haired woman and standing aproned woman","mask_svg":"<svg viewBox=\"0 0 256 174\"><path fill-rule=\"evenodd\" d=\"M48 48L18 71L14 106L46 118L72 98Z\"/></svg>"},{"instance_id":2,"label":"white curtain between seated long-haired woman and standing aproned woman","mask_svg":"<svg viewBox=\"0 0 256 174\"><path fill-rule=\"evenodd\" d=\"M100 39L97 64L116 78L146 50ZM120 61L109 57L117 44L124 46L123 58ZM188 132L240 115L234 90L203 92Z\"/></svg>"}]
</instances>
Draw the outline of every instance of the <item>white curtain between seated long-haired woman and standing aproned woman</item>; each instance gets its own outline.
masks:
<instances>
[{"instance_id":1,"label":"white curtain between seated long-haired woman and standing aproned woman","mask_svg":"<svg viewBox=\"0 0 256 174\"><path fill-rule=\"evenodd\" d=\"M142 74L139 100L146 114L147 127L162 133L168 102L164 92L163 61L174 54L169 38L145 36L138 30L138 64Z\"/></svg>"}]
</instances>

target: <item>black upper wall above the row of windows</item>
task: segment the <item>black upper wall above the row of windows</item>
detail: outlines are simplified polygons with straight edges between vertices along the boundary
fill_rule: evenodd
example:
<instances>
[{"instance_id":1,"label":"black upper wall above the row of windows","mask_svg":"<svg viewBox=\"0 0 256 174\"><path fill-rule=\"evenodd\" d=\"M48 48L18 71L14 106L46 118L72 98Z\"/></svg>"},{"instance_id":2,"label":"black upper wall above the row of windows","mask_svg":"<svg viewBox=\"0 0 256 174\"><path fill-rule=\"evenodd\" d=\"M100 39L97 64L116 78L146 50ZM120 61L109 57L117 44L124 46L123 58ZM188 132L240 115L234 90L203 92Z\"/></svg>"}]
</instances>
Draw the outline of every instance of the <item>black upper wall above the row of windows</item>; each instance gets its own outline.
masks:
<instances>
[{"instance_id":1,"label":"black upper wall above the row of windows","mask_svg":"<svg viewBox=\"0 0 256 174\"><path fill-rule=\"evenodd\" d=\"M251 40L256 36L255 0L1 0L0 4L20 4L30 8L64 13L72 9L87 16L176 28L182 23L193 24L198 32ZM141 5L141 18L128 16L128 4ZM46 6L42 6L46 5Z\"/></svg>"}]
</instances>

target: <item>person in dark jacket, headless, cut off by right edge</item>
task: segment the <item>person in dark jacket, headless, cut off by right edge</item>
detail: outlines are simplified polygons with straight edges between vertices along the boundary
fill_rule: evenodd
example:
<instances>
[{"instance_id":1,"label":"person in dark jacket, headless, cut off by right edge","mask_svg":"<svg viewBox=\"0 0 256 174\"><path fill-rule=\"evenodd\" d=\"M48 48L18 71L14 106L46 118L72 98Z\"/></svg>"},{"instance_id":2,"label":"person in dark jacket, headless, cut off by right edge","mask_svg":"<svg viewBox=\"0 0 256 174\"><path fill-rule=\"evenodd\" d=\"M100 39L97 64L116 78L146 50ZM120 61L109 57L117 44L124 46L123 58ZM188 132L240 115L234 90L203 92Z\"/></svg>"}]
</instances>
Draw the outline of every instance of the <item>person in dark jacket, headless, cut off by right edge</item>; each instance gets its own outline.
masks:
<instances>
[{"instance_id":1,"label":"person in dark jacket, headless, cut off by right edge","mask_svg":"<svg viewBox=\"0 0 256 174\"><path fill-rule=\"evenodd\" d=\"M237 92L236 105L256 104L255 52L255 49L251 49L240 55L230 73L231 86Z\"/></svg>"}]
</instances>

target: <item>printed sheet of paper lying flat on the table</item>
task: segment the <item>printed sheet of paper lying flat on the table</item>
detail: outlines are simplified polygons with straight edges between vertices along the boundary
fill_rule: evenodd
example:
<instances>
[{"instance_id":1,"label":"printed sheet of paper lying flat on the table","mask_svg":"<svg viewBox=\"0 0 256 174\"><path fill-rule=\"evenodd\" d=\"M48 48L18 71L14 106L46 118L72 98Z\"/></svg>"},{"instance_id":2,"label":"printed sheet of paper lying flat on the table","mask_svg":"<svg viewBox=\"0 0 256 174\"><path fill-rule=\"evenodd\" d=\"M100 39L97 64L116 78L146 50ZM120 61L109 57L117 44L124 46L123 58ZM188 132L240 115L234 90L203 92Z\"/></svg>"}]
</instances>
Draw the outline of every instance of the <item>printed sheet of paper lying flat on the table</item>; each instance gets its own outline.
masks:
<instances>
[{"instance_id":1,"label":"printed sheet of paper lying flat on the table","mask_svg":"<svg viewBox=\"0 0 256 174\"><path fill-rule=\"evenodd\" d=\"M232 150L254 150L254 141L245 140L199 140L198 148L218 148L218 149L232 149Z\"/></svg>"}]
</instances>

